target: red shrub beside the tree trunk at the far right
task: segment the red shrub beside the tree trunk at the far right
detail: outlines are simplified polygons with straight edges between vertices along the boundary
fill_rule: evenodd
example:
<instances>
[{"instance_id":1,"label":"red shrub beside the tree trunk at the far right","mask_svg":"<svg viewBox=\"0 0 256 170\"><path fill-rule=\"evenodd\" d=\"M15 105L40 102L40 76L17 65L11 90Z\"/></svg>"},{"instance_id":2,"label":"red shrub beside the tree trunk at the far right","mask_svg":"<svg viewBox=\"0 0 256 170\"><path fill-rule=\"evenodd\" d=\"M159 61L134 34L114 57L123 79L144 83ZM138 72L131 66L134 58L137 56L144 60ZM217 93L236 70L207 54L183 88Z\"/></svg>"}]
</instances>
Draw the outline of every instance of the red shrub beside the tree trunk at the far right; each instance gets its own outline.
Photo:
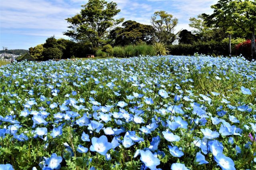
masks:
<instances>
[{"instance_id":1,"label":"red shrub beside the tree trunk at the far right","mask_svg":"<svg viewBox=\"0 0 256 170\"><path fill-rule=\"evenodd\" d=\"M251 40L246 40L245 42L236 45L235 49L236 55L242 54L246 59L250 59L252 56Z\"/></svg>"}]
</instances>

